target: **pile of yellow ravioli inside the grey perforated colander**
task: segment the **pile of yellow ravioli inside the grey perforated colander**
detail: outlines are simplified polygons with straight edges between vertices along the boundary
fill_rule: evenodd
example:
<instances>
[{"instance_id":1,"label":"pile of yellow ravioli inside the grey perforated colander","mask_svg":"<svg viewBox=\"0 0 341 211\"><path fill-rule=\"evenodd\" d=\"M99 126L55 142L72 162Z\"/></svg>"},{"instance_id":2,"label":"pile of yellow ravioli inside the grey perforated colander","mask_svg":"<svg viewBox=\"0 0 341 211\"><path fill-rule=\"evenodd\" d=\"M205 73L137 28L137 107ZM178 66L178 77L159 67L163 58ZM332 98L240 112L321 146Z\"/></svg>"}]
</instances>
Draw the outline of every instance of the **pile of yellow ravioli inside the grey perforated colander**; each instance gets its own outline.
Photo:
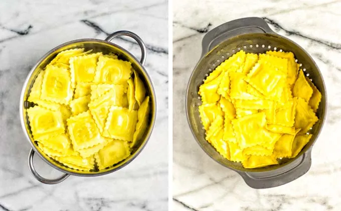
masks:
<instances>
[{"instance_id":1,"label":"pile of yellow ravioli inside the grey perforated colander","mask_svg":"<svg viewBox=\"0 0 341 211\"><path fill-rule=\"evenodd\" d=\"M294 158L318 121L321 93L299 69L292 52L239 51L199 88L206 140L244 168Z\"/></svg>"}]
</instances>

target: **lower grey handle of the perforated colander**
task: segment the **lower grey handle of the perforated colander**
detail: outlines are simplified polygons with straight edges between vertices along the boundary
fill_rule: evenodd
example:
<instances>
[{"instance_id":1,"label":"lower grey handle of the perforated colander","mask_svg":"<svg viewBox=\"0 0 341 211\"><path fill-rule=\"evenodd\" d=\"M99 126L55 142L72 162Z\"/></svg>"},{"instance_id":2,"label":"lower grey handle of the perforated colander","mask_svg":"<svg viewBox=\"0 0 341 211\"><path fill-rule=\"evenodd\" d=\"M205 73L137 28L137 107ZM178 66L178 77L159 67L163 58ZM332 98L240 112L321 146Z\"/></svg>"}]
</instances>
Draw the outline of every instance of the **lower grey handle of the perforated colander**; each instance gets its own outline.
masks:
<instances>
[{"instance_id":1,"label":"lower grey handle of the perforated colander","mask_svg":"<svg viewBox=\"0 0 341 211\"><path fill-rule=\"evenodd\" d=\"M311 166L311 150L302 154L298 159L292 161L288 165L271 172L241 172L238 173L243 177L247 185L252 188L270 188L277 187L291 182L305 174Z\"/></svg>"}]
</instances>

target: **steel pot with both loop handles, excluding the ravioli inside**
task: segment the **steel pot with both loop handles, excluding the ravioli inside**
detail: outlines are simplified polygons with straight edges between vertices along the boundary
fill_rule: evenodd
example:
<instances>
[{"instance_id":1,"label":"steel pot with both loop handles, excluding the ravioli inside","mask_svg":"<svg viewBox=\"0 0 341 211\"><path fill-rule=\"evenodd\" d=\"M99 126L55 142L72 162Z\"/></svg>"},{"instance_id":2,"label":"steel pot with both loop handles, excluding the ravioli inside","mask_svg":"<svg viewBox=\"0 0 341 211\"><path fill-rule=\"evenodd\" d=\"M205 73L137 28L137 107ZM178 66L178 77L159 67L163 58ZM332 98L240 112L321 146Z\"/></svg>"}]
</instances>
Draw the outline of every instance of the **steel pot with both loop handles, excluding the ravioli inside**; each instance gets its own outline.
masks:
<instances>
[{"instance_id":1,"label":"steel pot with both loop handles, excluding the ravioli inside","mask_svg":"<svg viewBox=\"0 0 341 211\"><path fill-rule=\"evenodd\" d=\"M119 36L129 36L138 43L138 45L141 48L140 62L124 48L110 42L112 39L114 39L115 37L119 37ZM45 66L48 63L50 63L50 61L59 52L68 50L68 49L73 49L73 48L84 48L85 51L92 50L92 53L96 53L96 52L103 52L103 54L114 53L118 55L119 59L131 62L132 67L134 68L134 70L138 72L139 77L144 82L144 85L146 87L146 92L147 92L146 94L149 95L150 101L151 101L149 125L143 137L141 138L141 140L132 149L130 156L126 158L125 160L103 170L85 172L85 171L71 169L59 163L58 161L48 157L47 155L45 155L40 150L40 148L37 146L37 143L33 139L32 131L30 128L30 124L29 124L29 120L28 120L28 116L26 112L28 108L32 107L32 103L29 103L27 99L30 94L33 83L35 79L37 78L39 72L42 71L45 68ZM145 58L146 58L146 48L141 38L138 37L136 34L129 32L129 31L118 31L109 35L105 40L79 39L79 40L70 41L60 46L57 46L56 48L52 49L47 54L45 54L43 58L32 68L32 70L30 71L30 73L28 74L26 78L26 81L23 85L23 90L20 96L20 119L21 119L21 125L26 135L26 138L32 146L32 149L30 150L30 153L29 153L29 168L37 180L46 184L56 184L65 180L69 175L85 176L85 177L101 176L104 174L112 173L126 166L141 152L147 140L149 139L151 131L154 127L155 116L156 116L156 101L155 101L155 93L154 93L153 85L152 85L152 82L149 78L147 71L143 67ZM35 170L34 163L33 163L33 156L35 153L37 153L39 157L42 158L50 166L54 167L55 169L59 171L64 172L64 174L56 179L47 179L39 175L39 173Z\"/></svg>"}]
</instances>

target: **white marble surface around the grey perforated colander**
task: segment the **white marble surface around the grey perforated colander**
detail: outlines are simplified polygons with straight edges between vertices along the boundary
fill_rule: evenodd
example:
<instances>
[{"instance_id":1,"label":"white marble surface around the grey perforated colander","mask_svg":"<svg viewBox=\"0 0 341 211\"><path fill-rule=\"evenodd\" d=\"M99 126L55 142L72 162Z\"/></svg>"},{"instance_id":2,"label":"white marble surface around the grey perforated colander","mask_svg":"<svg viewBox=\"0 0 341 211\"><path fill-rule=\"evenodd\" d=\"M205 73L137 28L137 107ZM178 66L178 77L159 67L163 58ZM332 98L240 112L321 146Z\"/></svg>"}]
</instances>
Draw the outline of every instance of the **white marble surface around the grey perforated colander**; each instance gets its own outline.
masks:
<instances>
[{"instance_id":1,"label":"white marble surface around the grey perforated colander","mask_svg":"<svg viewBox=\"0 0 341 211\"><path fill-rule=\"evenodd\" d=\"M173 1L174 210L341 210L341 1ZM270 189L252 189L212 160L194 140L185 115L190 74L207 29L243 17L302 46L325 80L328 115L304 176ZM208 27L208 28L207 28Z\"/></svg>"}]
</instances>

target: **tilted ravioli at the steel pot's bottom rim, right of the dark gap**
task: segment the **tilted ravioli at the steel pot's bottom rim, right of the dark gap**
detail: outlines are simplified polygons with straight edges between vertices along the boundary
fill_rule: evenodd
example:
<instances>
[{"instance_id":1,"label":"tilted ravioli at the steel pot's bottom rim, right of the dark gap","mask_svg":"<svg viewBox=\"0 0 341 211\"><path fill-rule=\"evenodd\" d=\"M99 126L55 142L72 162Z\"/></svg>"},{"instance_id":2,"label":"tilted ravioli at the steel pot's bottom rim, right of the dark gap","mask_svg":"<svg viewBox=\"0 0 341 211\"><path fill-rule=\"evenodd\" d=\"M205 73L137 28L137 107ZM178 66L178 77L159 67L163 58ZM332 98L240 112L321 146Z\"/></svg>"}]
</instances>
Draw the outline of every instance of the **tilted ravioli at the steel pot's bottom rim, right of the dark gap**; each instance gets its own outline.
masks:
<instances>
[{"instance_id":1,"label":"tilted ravioli at the steel pot's bottom rim, right of the dark gap","mask_svg":"<svg viewBox=\"0 0 341 211\"><path fill-rule=\"evenodd\" d=\"M110 167L129 157L129 145L125 141L113 140L95 154L99 170Z\"/></svg>"}]
</instances>

